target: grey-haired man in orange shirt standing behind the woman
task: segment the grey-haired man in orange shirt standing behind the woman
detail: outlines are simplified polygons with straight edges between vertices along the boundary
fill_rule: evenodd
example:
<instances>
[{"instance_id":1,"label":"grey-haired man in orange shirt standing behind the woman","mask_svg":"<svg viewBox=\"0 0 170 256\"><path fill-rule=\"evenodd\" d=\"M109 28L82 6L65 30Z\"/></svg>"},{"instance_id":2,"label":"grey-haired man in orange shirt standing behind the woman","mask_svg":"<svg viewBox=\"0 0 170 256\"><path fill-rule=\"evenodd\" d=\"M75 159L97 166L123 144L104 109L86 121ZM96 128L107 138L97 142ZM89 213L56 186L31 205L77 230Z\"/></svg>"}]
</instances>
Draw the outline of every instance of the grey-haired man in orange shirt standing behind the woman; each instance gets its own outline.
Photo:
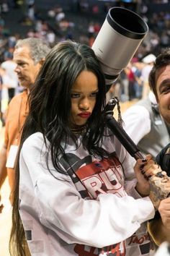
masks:
<instances>
[{"instance_id":1,"label":"grey-haired man in orange shirt standing behind the woman","mask_svg":"<svg viewBox=\"0 0 170 256\"><path fill-rule=\"evenodd\" d=\"M8 176L11 202L14 190L14 163L24 121L29 111L27 98L48 51L50 51L48 45L38 38L19 40L14 50L14 62L17 64L15 72L17 72L20 85L25 89L22 93L14 96L9 103L6 113L4 144L0 150L0 189Z\"/></svg>"}]
</instances>

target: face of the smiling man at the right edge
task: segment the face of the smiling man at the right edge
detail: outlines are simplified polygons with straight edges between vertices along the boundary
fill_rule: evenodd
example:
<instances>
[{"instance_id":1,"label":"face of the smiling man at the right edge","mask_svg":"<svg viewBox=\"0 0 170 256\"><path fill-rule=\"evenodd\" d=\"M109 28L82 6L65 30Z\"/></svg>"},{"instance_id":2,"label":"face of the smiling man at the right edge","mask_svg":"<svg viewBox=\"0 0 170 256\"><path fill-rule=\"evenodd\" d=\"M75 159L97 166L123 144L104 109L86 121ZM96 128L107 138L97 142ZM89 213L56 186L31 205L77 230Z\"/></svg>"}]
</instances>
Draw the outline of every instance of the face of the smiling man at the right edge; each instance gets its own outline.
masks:
<instances>
[{"instance_id":1,"label":"face of the smiling man at the right edge","mask_svg":"<svg viewBox=\"0 0 170 256\"><path fill-rule=\"evenodd\" d=\"M161 115L170 124L170 65L158 71L156 93Z\"/></svg>"}]
</instances>

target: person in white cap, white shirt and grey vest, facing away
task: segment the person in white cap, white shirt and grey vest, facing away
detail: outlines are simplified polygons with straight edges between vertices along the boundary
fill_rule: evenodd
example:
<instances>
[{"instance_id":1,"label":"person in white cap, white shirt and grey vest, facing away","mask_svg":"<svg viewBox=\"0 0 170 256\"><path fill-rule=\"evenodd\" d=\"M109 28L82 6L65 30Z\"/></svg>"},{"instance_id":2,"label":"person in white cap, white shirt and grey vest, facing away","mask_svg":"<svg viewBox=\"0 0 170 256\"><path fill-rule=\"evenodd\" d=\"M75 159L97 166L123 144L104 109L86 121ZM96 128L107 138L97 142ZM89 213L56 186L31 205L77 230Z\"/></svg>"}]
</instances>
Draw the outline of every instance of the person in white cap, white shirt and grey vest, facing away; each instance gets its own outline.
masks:
<instances>
[{"instance_id":1,"label":"person in white cap, white shirt and grey vest, facing away","mask_svg":"<svg viewBox=\"0 0 170 256\"><path fill-rule=\"evenodd\" d=\"M146 56L143 61L147 63L146 80L149 87L149 73L156 57L153 54ZM130 106L123 114L125 132L138 146L143 155L151 154L153 158L164 148L170 140L169 126L162 118L156 96L150 89L146 98Z\"/></svg>"}]
</instances>

